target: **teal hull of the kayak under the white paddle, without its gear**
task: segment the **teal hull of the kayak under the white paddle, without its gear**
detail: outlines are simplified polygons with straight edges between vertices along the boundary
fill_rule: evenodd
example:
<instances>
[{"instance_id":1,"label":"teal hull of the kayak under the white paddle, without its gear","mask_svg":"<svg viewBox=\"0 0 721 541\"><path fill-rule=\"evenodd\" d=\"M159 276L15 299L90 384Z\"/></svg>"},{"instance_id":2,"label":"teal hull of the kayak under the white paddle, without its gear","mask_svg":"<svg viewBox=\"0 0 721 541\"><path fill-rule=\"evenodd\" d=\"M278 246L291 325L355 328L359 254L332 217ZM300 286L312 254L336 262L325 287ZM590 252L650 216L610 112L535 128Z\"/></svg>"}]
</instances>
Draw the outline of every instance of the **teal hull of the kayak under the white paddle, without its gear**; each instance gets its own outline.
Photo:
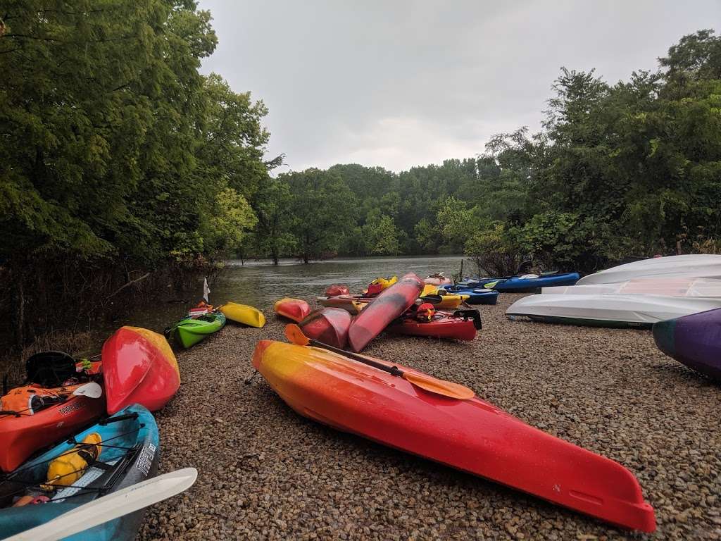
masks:
<instances>
[{"instance_id":1,"label":"teal hull of the kayak under the white paddle, without its gear","mask_svg":"<svg viewBox=\"0 0 721 541\"><path fill-rule=\"evenodd\" d=\"M129 418L113 422L113 419L125 415L128 415ZM80 491L71 494L74 489L63 488L56 493L49 493L52 499L48 503L0 509L0 539L45 524L68 511L73 511L84 503L93 501L100 494L120 491L156 475L160 440L153 415L142 406L133 405L121 410L118 415L108 421L110 422L105 425L96 424L76 434L76 441L82 441L88 434L96 433L101 436L103 441L112 439L111 445L131 448L133 452L102 446L99 461L105 462L108 469L101 470L99 467L91 467L86 475L74 483L75 487L87 486L87 491L82 491L81 488ZM9 480L6 482L10 483L12 480L30 484L42 482L45 480L45 472L48 469L47 462L68 452L72 447L74 444L67 441L58 444L48 452L27 462L23 465L22 471L9 476ZM97 475L97 479L92 480L92 475ZM98 492L97 488L103 485L107 486L107 490ZM65 497L63 498L63 496ZM144 514L145 510L141 509L63 539L66 541L132 541L141 527Z\"/></svg>"}]
</instances>

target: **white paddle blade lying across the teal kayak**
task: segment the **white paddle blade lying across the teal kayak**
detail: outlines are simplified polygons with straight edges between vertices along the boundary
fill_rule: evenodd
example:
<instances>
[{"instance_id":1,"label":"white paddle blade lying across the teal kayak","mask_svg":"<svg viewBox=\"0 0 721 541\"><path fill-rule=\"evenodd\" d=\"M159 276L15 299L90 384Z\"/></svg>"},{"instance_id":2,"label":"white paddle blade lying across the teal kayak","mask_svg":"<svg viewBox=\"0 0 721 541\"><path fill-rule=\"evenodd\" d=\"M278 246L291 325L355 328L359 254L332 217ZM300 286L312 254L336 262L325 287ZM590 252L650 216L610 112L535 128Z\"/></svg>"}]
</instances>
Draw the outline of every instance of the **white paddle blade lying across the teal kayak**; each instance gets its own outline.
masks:
<instances>
[{"instance_id":1,"label":"white paddle blade lying across the teal kayak","mask_svg":"<svg viewBox=\"0 0 721 541\"><path fill-rule=\"evenodd\" d=\"M123 488L102 498L79 506L41 526L26 529L6 541L56 541L86 529L117 519L157 503L190 488L198 478L198 470L186 467L136 485ZM52 505L52 503L50 503Z\"/></svg>"}]
</instances>

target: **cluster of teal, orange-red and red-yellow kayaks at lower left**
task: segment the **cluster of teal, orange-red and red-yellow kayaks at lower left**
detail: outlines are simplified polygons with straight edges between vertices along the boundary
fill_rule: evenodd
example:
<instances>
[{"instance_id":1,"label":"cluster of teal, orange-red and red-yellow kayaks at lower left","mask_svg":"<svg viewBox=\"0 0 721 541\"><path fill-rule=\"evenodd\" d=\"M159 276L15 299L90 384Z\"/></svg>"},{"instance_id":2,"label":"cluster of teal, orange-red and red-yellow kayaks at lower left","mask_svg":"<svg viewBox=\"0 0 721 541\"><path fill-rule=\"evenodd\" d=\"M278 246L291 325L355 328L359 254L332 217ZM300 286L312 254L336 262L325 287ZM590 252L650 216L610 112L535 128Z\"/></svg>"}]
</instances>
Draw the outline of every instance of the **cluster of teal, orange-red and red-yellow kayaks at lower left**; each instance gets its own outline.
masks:
<instances>
[{"instance_id":1,"label":"cluster of teal, orange-red and red-yellow kayaks at lower left","mask_svg":"<svg viewBox=\"0 0 721 541\"><path fill-rule=\"evenodd\" d=\"M27 359L26 381L0 398L0 537L48 524L42 538L49 538L48 531L61 526L53 519L97 515L78 511L156 475L160 439L151 411L180 387L172 349L151 330L121 327L99 357L36 353ZM143 507L170 496L160 488L151 492L157 497L148 503L120 501L114 504L123 504L120 514L104 504L112 513L105 522L70 520L63 531L84 530L73 539L133 540Z\"/></svg>"}]
</instances>

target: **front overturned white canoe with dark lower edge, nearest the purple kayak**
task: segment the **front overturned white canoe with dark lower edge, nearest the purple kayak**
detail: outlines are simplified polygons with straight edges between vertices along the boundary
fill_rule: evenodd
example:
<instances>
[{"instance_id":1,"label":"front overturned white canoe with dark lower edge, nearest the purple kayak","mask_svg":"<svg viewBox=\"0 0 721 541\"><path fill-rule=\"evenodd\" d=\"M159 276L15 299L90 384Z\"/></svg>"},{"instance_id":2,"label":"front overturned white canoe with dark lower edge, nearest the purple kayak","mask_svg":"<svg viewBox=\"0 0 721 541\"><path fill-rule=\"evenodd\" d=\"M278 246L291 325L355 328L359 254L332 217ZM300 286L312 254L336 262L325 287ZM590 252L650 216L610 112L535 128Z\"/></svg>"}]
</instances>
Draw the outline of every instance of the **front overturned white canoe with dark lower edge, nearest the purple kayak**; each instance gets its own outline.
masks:
<instances>
[{"instance_id":1,"label":"front overturned white canoe with dark lower edge, nearest the purple kayak","mask_svg":"<svg viewBox=\"0 0 721 541\"><path fill-rule=\"evenodd\" d=\"M638 294L529 295L505 314L534 320L599 327L650 327L696 312L721 308L721 298Z\"/></svg>"}]
</instances>

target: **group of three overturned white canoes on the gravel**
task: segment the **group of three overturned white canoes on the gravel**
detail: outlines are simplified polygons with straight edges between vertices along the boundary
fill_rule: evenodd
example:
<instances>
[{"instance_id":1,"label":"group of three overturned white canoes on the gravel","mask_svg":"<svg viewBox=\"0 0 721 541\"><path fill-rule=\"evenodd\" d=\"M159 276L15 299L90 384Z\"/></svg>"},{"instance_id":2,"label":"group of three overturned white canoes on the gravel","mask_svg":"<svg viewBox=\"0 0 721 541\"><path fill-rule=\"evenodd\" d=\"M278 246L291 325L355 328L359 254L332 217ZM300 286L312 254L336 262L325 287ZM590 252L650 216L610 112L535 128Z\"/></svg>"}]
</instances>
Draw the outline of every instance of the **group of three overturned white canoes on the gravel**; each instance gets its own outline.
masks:
<instances>
[{"instance_id":1,"label":"group of three overturned white canoes on the gravel","mask_svg":"<svg viewBox=\"0 0 721 541\"><path fill-rule=\"evenodd\" d=\"M721 256L637 261L586 276L575 286L544 287L540 295L514 302L506 315L572 325L650 328L662 320L721 308L721 279L714 276L721 276Z\"/></svg>"}]
</instances>

